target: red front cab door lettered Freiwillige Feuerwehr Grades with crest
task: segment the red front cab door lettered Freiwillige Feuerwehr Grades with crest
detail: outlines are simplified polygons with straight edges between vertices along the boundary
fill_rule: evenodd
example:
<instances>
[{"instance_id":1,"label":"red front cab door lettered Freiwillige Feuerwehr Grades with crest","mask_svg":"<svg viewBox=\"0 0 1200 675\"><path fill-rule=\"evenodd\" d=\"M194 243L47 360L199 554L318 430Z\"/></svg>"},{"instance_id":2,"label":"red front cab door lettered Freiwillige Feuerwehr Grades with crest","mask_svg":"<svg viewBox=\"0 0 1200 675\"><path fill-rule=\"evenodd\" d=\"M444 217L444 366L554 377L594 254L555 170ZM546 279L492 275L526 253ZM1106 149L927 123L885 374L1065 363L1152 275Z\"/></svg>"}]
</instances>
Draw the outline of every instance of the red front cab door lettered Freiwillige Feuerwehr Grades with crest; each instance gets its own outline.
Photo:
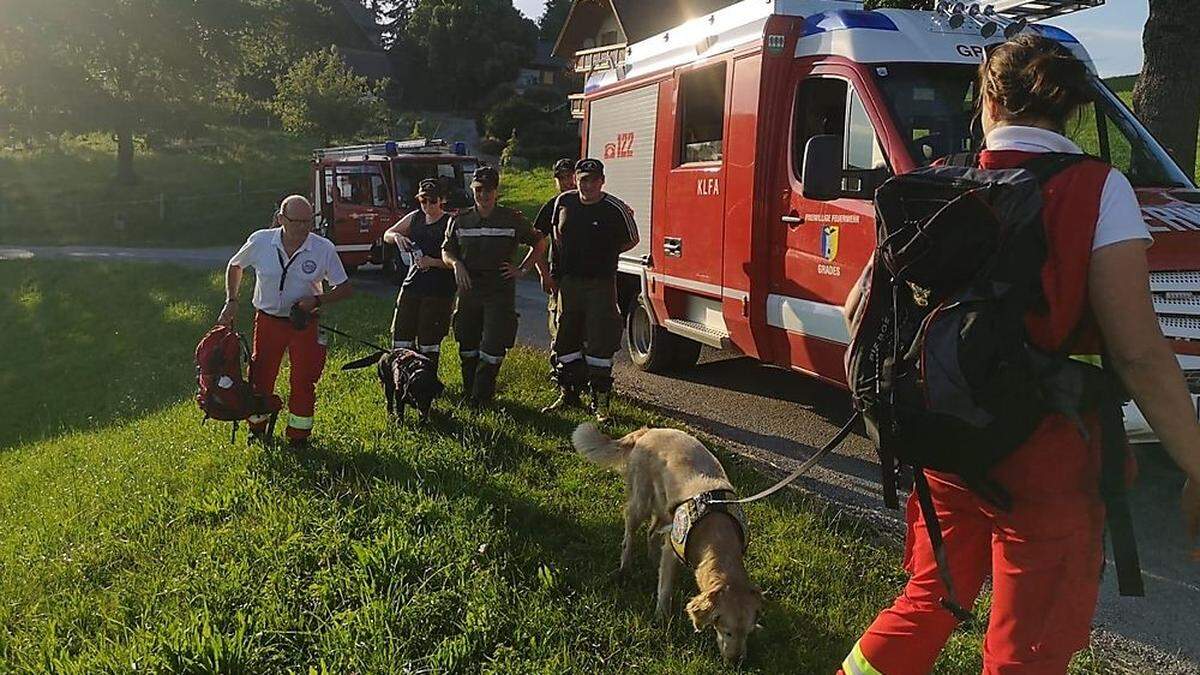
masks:
<instances>
[{"instance_id":1,"label":"red front cab door lettered Freiwillige Feuerwehr Grades with crest","mask_svg":"<svg viewBox=\"0 0 1200 675\"><path fill-rule=\"evenodd\" d=\"M841 306L875 249L871 196L888 172L875 126L850 72L818 72L800 80L792 110L788 163L779 174L780 222L772 223L767 323L778 329L775 353L792 368L826 380L845 378L850 336ZM800 174L810 138L842 139L842 198L806 199ZM781 154L784 155L784 154Z\"/></svg>"}]
</instances>

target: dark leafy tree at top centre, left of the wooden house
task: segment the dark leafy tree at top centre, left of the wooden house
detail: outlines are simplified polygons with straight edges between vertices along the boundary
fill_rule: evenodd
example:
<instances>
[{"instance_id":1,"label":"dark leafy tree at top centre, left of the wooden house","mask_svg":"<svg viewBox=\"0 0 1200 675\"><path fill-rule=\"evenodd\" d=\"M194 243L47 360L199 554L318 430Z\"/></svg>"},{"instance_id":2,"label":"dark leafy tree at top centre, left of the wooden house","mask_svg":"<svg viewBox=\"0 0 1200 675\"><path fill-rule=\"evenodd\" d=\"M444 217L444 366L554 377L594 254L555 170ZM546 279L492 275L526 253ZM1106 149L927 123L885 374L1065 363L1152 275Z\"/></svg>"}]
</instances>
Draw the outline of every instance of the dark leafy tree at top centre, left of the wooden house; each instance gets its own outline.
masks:
<instances>
[{"instance_id":1,"label":"dark leafy tree at top centre, left of the wooden house","mask_svg":"<svg viewBox=\"0 0 1200 675\"><path fill-rule=\"evenodd\" d=\"M400 48L413 62L410 94L437 108L474 107L496 85L512 82L534 54L536 25L512 0L420 0Z\"/></svg>"}]
</instances>

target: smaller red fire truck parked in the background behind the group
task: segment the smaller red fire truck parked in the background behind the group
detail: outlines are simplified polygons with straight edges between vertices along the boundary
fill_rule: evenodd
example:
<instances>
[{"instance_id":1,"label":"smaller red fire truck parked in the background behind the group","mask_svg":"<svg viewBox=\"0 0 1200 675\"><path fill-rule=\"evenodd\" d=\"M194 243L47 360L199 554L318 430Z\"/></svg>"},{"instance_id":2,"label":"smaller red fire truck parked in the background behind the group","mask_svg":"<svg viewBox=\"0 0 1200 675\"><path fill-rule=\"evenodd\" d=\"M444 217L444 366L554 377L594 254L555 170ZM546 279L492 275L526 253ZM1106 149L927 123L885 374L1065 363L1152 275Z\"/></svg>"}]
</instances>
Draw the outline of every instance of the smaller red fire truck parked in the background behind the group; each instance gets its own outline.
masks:
<instances>
[{"instance_id":1,"label":"smaller red fire truck parked in the background behind the group","mask_svg":"<svg viewBox=\"0 0 1200 675\"><path fill-rule=\"evenodd\" d=\"M317 232L337 247L346 270L374 263L395 268L395 246L384 246L383 233L416 208L416 187L427 178L442 179L450 208L470 204L470 175L479 166L458 143L388 141L368 145L323 148L312 154L312 203Z\"/></svg>"}]
</instances>

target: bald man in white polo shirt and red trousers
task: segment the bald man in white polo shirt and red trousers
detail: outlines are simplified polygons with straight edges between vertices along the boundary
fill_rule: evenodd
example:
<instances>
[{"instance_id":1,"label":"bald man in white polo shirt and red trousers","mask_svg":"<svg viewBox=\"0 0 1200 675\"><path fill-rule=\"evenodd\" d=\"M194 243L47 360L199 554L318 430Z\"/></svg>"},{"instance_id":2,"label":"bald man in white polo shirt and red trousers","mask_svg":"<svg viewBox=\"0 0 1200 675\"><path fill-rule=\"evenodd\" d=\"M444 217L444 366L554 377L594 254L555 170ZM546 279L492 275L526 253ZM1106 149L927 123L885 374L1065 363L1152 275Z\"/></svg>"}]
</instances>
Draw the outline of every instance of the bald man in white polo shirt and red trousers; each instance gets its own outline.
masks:
<instances>
[{"instance_id":1,"label":"bald man in white polo shirt and red trousers","mask_svg":"<svg viewBox=\"0 0 1200 675\"><path fill-rule=\"evenodd\" d=\"M259 229L229 259L226 269L226 304L218 323L233 325L238 316L238 291L242 270L254 268L254 346L250 378L254 392L270 394L280 375L283 353L292 363L287 437L293 446L307 443L317 405L317 381L325 368L325 345L319 338L317 313L325 305L346 299L350 285L334 244L312 233L312 205L293 195L275 214L276 227ZM326 292L323 282L330 288ZM308 316L302 328L289 318L299 306ZM250 419L256 437L266 431L268 419Z\"/></svg>"}]
</instances>

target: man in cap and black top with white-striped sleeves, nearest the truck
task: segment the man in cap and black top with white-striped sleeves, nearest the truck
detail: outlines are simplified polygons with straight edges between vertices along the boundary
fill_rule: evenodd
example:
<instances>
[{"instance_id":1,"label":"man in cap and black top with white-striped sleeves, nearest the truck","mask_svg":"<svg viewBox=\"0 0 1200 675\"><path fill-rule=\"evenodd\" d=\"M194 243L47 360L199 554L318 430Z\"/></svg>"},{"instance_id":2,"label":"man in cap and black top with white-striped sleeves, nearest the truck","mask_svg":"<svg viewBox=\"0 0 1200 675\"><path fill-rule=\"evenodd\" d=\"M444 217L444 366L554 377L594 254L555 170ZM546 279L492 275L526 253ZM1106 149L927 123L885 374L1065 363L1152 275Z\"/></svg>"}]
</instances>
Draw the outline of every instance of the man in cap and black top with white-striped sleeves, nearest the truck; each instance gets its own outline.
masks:
<instances>
[{"instance_id":1,"label":"man in cap and black top with white-striped sleeves, nearest the truck","mask_svg":"<svg viewBox=\"0 0 1200 675\"><path fill-rule=\"evenodd\" d=\"M559 396L546 412L565 407L571 390L592 390L593 412L608 419L612 357L620 348L617 257L637 245L632 210L604 191L604 163L575 165L578 190L554 201L550 267L558 285L559 324L551 346Z\"/></svg>"}]
</instances>

